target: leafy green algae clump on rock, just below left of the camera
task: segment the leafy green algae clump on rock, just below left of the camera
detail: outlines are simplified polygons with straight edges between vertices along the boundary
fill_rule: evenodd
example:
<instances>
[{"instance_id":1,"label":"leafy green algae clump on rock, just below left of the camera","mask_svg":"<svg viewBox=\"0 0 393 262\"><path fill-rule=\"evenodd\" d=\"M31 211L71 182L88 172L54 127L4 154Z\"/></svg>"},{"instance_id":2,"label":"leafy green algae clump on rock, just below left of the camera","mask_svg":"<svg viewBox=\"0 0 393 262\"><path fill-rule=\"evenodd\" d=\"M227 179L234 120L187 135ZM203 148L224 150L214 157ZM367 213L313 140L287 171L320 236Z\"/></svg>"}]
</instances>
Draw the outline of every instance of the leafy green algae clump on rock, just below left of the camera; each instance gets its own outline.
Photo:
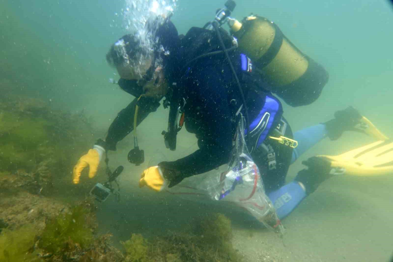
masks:
<instances>
[{"instance_id":1,"label":"leafy green algae clump on rock, just below left of the camera","mask_svg":"<svg viewBox=\"0 0 393 262\"><path fill-rule=\"evenodd\" d=\"M86 225L88 212L83 206L73 208L71 214L60 214L46 224L41 234L39 247L56 254L71 245L87 248L93 239L92 231Z\"/></svg>"}]
</instances>

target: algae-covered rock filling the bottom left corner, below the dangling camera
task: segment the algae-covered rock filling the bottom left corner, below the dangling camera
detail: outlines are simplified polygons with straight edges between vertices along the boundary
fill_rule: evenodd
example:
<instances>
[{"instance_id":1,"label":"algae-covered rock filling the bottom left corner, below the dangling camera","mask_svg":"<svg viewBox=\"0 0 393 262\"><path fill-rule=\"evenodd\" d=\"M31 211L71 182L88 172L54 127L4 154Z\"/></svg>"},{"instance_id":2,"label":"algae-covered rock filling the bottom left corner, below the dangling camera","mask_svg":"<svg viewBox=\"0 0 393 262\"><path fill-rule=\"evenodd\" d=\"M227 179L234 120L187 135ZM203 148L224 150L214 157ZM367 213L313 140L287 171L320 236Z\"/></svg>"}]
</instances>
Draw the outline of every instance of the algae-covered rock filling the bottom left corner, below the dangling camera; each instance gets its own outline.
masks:
<instances>
[{"instance_id":1,"label":"algae-covered rock filling the bottom left corner, below the dangling camera","mask_svg":"<svg viewBox=\"0 0 393 262\"><path fill-rule=\"evenodd\" d=\"M86 199L70 208L28 192L0 192L0 220L7 226L0 233L0 262L123 261L109 234L94 234L98 225L93 203Z\"/></svg>"}]
</instances>

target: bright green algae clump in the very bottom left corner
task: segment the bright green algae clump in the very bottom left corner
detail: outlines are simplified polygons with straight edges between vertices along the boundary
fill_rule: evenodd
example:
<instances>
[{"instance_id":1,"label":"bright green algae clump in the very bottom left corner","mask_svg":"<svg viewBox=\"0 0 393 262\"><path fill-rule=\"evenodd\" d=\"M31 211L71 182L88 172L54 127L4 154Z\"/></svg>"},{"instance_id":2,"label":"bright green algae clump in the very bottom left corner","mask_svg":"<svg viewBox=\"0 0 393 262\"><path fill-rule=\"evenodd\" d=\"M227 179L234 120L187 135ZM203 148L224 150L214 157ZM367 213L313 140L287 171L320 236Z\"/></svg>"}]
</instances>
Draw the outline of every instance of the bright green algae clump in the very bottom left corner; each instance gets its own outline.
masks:
<instances>
[{"instance_id":1,"label":"bright green algae clump in the very bottom left corner","mask_svg":"<svg viewBox=\"0 0 393 262\"><path fill-rule=\"evenodd\" d=\"M2 262L41 262L34 250L35 234L31 225L10 231L4 229L0 234L0 261Z\"/></svg>"}]
</instances>

